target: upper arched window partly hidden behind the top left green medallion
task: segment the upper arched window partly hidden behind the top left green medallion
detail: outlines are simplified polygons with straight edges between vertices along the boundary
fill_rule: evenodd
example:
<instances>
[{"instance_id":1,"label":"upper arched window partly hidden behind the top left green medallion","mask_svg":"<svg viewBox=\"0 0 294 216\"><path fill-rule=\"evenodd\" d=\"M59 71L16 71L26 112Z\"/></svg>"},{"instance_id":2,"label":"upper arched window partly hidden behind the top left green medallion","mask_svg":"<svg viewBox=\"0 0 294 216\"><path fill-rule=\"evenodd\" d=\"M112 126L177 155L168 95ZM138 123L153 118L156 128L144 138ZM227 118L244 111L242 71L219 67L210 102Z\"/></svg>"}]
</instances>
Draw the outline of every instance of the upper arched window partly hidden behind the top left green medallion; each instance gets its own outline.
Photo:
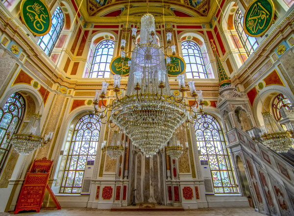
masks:
<instances>
[{"instance_id":1,"label":"upper arched window partly hidden behind the top left green medallion","mask_svg":"<svg viewBox=\"0 0 294 216\"><path fill-rule=\"evenodd\" d=\"M60 35L60 32L64 25L64 16L60 9L57 7L52 15L52 25L48 34L41 36L38 41L38 45L45 51L49 56L54 45Z\"/></svg>"}]
</instances>

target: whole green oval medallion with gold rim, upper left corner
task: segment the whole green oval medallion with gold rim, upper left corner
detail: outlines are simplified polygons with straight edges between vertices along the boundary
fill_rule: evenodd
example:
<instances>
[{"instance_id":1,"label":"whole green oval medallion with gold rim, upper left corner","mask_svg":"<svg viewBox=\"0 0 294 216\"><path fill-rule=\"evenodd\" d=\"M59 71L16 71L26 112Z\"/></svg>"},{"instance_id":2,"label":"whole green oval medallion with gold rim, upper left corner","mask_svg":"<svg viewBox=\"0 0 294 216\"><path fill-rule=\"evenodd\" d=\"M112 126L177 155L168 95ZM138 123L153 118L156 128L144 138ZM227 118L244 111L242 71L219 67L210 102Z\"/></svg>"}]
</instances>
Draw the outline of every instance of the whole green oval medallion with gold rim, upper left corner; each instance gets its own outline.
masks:
<instances>
[{"instance_id":1,"label":"whole green oval medallion with gold rim, upper left corner","mask_svg":"<svg viewBox=\"0 0 294 216\"><path fill-rule=\"evenodd\" d=\"M51 28L50 10L42 0L23 0L21 17L26 27L35 35L45 35Z\"/></svg>"}]
</instances>

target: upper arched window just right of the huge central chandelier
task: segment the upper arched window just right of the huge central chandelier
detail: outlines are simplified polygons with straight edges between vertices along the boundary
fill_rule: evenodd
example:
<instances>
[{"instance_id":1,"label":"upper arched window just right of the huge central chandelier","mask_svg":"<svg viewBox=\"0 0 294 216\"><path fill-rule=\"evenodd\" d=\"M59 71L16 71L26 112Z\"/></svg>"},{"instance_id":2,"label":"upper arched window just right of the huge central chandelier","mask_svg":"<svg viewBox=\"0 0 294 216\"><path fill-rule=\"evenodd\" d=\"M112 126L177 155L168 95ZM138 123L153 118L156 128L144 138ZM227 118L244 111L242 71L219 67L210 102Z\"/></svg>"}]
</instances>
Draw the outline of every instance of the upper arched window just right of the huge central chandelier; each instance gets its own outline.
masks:
<instances>
[{"instance_id":1,"label":"upper arched window just right of the huge central chandelier","mask_svg":"<svg viewBox=\"0 0 294 216\"><path fill-rule=\"evenodd\" d=\"M208 78L200 47L193 41L182 42L187 78Z\"/></svg>"}]
</instances>

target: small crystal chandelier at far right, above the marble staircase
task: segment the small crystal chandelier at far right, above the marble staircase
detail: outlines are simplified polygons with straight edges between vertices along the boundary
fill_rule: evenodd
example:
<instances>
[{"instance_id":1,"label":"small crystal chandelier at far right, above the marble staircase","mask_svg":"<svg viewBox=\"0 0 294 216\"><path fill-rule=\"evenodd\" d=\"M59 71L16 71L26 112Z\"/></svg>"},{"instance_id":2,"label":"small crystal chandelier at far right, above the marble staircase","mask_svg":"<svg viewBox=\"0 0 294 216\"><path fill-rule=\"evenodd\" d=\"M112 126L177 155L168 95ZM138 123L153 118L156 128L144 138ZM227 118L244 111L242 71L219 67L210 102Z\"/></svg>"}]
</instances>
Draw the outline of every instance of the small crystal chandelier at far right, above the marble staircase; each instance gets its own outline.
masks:
<instances>
[{"instance_id":1,"label":"small crystal chandelier at far right, above the marble staircase","mask_svg":"<svg viewBox=\"0 0 294 216\"><path fill-rule=\"evenodd\" d=\"M261 127L261 139L264 144L278 153L288 152L294 144L292 134L285 131L282 126L274 120L270 112L264 112L262 115L264 127Z\"/></svg>"}]
</instances>

